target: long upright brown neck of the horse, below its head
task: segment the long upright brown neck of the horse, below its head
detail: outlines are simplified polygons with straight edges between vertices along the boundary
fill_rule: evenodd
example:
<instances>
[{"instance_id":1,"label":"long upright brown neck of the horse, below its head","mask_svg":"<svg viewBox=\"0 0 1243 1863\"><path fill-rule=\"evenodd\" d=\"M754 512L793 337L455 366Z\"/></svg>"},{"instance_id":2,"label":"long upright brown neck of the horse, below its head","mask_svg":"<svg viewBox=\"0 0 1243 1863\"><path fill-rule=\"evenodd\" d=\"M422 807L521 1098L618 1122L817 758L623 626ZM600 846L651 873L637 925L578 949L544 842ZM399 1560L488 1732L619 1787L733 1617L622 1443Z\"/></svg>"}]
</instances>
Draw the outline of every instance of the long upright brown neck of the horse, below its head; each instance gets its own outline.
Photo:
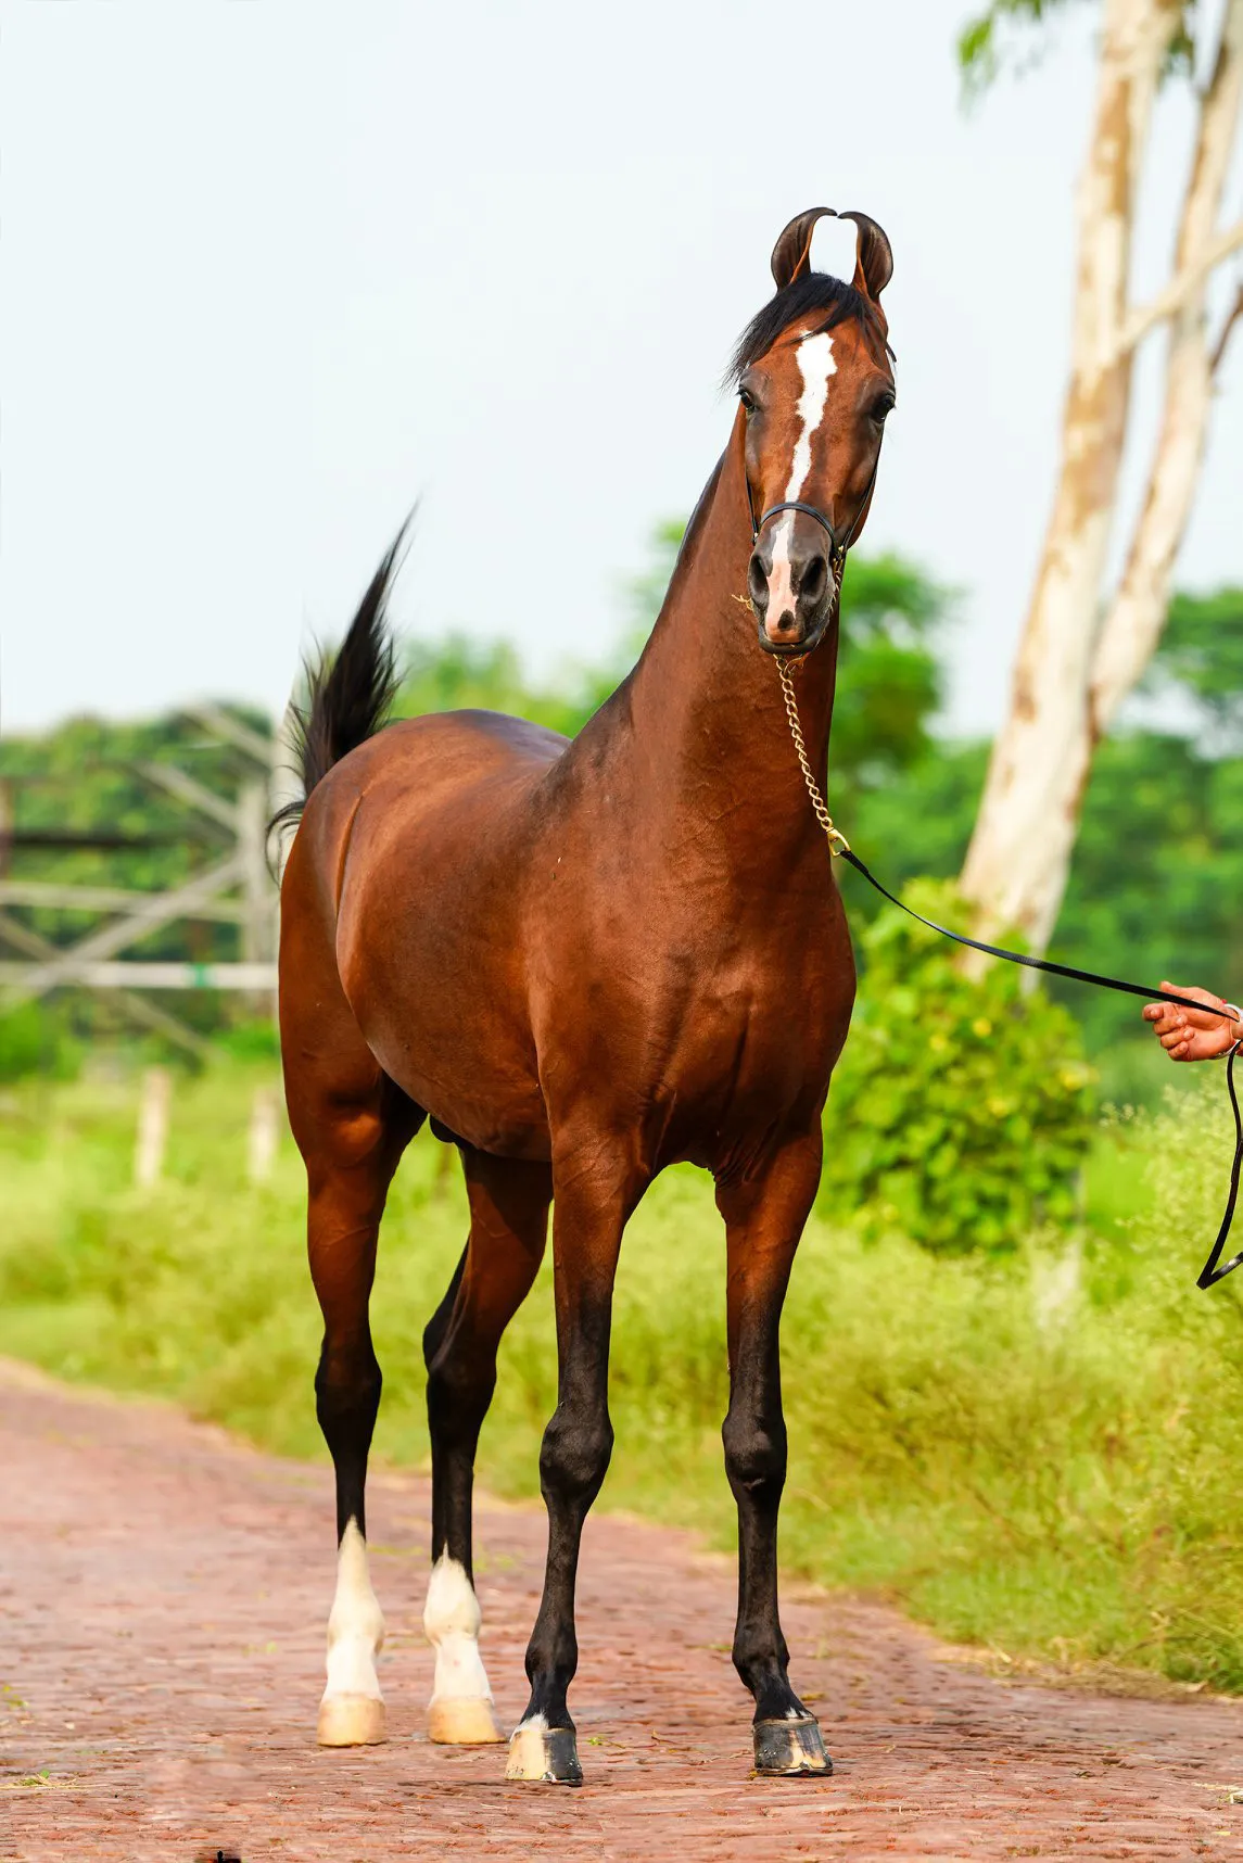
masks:
<instances>
[{"instance_id":1,"label":"long upright brown neck of the horse, below its head","mask_svg":"<svg viewBox=\"0 0 1243 1863\"><path fill-rule=\"evenodd\" d=\"M745 604L751 524L742 430L710 479L652 637L630 680L630 753L662 810L695 810L747 866L788 861L820 835L803 788L777 667ZM742 598L742 600L740 600ZM837 630L796 674L813 769L824 769Z\"/></svg>"}]
</instances>

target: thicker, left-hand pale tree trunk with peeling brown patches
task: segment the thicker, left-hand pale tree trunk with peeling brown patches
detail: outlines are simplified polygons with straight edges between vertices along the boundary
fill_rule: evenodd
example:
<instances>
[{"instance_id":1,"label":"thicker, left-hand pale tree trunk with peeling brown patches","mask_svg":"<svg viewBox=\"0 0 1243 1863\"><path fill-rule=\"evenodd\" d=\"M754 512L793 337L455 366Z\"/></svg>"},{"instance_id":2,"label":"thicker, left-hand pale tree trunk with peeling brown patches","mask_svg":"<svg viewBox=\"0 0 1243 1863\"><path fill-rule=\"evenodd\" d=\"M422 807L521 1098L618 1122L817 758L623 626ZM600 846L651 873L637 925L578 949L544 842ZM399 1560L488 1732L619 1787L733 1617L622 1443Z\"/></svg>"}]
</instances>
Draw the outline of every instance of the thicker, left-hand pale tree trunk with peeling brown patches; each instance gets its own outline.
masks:
<instances>
[{"instance_id":1,"label":"thicker, left-hand pale tree trunk with peeling brown patches","mask_svg":"<svg viewBox=\"0 0 1243 1863\"><path fill-rule=\"evenodd\" d=\"M1088 669L1131 388L1131 225L1178 0L1105 0L1096 119L1077 192L1079 268L1059 486L962 885L988 937L1044 948L1086 777Z\"/></svg>"}]
</instances>

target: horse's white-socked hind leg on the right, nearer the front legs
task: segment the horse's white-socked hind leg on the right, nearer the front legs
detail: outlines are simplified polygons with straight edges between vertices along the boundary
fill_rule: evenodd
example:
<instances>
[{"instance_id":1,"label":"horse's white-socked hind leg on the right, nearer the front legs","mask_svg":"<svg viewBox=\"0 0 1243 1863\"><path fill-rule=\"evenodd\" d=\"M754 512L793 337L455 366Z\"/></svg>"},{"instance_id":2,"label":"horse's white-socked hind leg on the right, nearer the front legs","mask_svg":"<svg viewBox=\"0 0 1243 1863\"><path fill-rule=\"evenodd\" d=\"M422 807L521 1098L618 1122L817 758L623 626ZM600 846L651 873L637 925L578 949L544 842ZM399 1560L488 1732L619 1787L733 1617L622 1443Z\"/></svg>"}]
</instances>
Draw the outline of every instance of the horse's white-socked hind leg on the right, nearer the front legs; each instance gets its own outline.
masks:
<instances>
[{"instance_id":1,"label":"horse's white-socked hind leg on the right, nearer the front legs","mask_svg":"<svg viewBox=\"0 0 1243 1863\"><path fill-rule=\"evenodd\" d=\"M535 1280L548 1233L552 1170L462 1148L470 1241L423 1334L432 1438L432 1574L423 1628L436 1651L429 1736L445 1746L501 1740L479 1658L471 1565L475 1446L496 1349Z\"/></svg>"}]
</instances>

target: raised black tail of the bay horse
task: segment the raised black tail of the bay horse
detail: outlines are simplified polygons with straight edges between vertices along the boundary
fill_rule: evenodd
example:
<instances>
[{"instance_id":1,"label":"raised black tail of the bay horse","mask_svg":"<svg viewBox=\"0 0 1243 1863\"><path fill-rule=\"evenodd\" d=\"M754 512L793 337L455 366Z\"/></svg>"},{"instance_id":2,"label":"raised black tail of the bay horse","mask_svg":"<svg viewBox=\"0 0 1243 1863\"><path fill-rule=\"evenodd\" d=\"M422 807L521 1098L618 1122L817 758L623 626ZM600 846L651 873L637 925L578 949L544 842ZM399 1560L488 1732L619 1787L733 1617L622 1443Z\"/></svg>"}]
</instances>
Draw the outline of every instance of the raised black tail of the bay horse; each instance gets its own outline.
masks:
<instances>
[{"instance_id":1,"label":"raised black tail of the bay horse","mask_svg":"<svg viewBox=\"0 0 1243 1863\"><path fill-rule=\"evenodd\" d=\"M388 596L404 559L414 512L386 551L358 605L335 658L321 654L307 665L307 702L294 706L294 755L302 796L272 818L272 827L294 822L307 796L334 764L373 738L384 725L397 691L397 658L388 632Z\"/></svg>"}]
</instances>

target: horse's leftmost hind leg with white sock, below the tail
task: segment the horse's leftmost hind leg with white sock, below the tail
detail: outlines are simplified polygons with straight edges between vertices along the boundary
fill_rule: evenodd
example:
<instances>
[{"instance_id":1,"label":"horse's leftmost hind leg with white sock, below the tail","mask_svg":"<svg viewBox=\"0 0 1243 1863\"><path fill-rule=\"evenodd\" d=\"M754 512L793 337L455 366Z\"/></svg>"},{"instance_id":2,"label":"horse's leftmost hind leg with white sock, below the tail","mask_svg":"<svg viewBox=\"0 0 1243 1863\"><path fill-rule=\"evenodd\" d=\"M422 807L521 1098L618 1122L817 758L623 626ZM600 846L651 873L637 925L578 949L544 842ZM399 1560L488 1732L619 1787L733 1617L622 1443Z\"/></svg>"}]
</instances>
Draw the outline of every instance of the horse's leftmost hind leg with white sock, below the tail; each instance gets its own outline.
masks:
<instances>
[{"instance_id":1,"label":"horse's leftmost hind leg with white sock, below the tail","mask_svg":"<svg viewBox=\"0 0 1243 1863\"><path fill-rule=\"evenodd\" d=\"M375 1673L384 1619L367 1571L363 1505L380 1405L367 1308L384 1200L423 1112L380 1071L352 1017L345 1021L339 993L334 1002L322 989L306 1043L291 1008L283 1010L289 1118L307 1170L307 1254L324 1315L315 1408L337 1485L337 1587L317 1738L321 1746L369 1746L384 1738Z\"/></svg>"}]
</instances>

